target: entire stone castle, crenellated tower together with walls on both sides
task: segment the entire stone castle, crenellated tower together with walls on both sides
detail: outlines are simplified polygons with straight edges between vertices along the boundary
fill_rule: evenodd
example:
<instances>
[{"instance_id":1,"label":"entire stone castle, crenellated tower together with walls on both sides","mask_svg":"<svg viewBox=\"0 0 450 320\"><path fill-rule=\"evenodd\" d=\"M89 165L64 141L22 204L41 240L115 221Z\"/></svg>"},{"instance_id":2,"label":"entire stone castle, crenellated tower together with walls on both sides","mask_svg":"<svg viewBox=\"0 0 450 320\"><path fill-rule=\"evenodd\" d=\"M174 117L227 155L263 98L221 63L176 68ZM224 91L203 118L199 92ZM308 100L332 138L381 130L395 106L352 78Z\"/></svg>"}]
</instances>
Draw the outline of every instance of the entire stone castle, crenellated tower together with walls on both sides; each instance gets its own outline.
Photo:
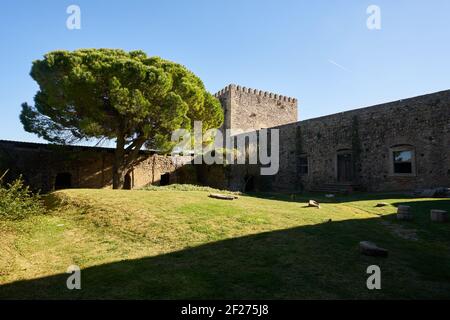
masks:
<instances>
[{"instance_id":1,"label":"entire stone castle, crenellated tower together with walls on both sides","mask_svg":"<svg viewBox=\"0 0 450 320\"><path fill-rule=\"evenodd\" d=\"M126 187L198 183L245 191L403 191L450 186L450 90L298 121L297 99L229 85L215 95L236 134L279 129L279 171L205 166L142 151ZM0 141L0 165L43 191L111 187L113 150Z\"/></svg>"}]
</instances>

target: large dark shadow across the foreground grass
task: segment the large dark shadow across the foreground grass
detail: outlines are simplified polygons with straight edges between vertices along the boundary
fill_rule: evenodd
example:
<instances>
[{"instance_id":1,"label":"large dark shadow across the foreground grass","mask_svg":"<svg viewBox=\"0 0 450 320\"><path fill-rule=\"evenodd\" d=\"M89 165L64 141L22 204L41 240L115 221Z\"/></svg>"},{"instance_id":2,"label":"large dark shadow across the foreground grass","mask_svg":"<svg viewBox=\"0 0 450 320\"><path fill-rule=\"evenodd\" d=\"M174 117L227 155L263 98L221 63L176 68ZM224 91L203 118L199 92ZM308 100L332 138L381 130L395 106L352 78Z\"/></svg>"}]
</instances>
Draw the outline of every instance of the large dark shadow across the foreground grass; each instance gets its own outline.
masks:
<instances>
[{"instance_id":1,"label":"large dark shadow across the foreground grass","mask_svg":"<svg viewBox=\"0 0 450 320\"><path fill-rule=\"evenodd\" d=\"M0 286L0 298L449 298L448 245L399 239L380 223L384 219L394 221L328 222L93 266L81 271L81 290L66 288L65 273L17 281ZM441 236L448 240L448 229ZM389 257L362 256L361 240L389 249ZM373 264L382 270L382 290L366 288Z\"/></svg>"}]
</instances>

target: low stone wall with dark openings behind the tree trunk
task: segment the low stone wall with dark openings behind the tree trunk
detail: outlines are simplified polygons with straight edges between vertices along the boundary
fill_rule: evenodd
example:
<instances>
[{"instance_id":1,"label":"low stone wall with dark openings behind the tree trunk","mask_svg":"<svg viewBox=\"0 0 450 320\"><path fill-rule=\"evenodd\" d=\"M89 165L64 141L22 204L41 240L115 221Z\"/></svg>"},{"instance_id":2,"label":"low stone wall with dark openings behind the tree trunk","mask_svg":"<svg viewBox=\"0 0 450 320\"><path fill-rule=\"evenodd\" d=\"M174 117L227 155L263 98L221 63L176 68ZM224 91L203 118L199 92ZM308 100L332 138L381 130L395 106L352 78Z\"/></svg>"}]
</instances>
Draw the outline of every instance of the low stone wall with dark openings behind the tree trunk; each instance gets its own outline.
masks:
<instances>
[{"instance_id":1,"label":"low stone wall with dark openings behind the tree trunk","mask_svg":"<svg viewBox=\"0 0 450 320\"><path fill-rule=\"evenodd\" d=\"M191 157L172 157L142 152L140 163L129 172L130 188L159 185L163 174L169 183L195 181L187 168ZM70 176L72 188L112 188L114 150L110 148L59 146L0 141L0 170L9 176L22 175L34 189L55 189L57 176Z\"/></svg>"}]
</instances>

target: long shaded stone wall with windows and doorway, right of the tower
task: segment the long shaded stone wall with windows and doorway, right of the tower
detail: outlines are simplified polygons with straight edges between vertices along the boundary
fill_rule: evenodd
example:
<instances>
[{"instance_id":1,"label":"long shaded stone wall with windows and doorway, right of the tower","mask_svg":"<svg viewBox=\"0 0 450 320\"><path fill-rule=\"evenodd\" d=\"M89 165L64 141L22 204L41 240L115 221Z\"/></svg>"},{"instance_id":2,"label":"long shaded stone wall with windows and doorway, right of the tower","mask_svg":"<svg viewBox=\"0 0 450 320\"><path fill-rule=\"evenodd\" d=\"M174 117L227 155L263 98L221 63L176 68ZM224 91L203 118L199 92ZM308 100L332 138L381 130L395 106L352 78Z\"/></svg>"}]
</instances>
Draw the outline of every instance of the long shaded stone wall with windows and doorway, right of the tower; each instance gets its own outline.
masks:
<instances>
[{"instance_id":1,"label":"long shaded stone wall with windows and doorway, right of the tower","mask_svg":"<svg viewBox=\"0 0 450 320\"><path fill-rule=\"evenodd\" d=\"M277 190L337 183L337 154L353 158L352 183L369 191L450 186L450 90L300 121L280 129ZM414 152L414 172L392 172L393 148ZM308 173L301 174L299 157Z\"/></svg>"}]
</instances>

